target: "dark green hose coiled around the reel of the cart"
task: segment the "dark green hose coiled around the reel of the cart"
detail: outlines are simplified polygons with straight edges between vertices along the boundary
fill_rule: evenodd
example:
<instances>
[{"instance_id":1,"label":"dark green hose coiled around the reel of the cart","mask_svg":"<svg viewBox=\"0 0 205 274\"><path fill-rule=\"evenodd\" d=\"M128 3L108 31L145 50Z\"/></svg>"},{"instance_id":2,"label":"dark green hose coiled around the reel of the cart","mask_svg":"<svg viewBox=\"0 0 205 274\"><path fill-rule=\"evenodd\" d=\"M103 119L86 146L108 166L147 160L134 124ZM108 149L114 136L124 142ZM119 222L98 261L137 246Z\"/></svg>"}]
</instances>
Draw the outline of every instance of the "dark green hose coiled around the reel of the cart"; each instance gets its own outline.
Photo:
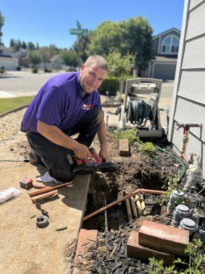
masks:
<instances>
[{"instance_id":1,"label":"dark green hose coiled around the reel of the cart","mask_svg":"<svg viewBox=\"0 0 205 274\"><path fill-rule=\"evenodd\" d=\"M144 127L150 119L153 120L154 104L146 103L143 100L132 100L128 102L126 121L130 121L133 125L141 125Z\"/></svg>"}]
</instances>

